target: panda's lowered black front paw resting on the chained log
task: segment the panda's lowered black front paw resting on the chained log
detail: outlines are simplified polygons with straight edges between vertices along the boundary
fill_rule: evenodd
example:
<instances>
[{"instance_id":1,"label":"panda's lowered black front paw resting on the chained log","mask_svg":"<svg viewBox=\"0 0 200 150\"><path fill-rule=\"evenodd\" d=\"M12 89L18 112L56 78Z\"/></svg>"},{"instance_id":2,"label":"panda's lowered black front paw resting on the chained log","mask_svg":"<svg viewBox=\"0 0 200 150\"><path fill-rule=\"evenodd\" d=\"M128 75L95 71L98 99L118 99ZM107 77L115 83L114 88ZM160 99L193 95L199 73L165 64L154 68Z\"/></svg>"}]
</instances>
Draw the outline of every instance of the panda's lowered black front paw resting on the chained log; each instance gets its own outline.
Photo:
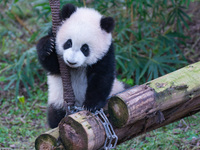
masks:
<instances>
[{"instance_id":1,"label":"panda's lowered black front paw resting on the chained log","mask_svg":"<svg viewBox=\"0 0 200 150\"><path fill-rule=\"evenodd\" d=\"M106 102L107 101L99 101L99 102L85 101L83 104L83 108L90 112L95 112L96 110L100 110L101 108L103 108L106 105Z\"/></svg>"}]
</instances>

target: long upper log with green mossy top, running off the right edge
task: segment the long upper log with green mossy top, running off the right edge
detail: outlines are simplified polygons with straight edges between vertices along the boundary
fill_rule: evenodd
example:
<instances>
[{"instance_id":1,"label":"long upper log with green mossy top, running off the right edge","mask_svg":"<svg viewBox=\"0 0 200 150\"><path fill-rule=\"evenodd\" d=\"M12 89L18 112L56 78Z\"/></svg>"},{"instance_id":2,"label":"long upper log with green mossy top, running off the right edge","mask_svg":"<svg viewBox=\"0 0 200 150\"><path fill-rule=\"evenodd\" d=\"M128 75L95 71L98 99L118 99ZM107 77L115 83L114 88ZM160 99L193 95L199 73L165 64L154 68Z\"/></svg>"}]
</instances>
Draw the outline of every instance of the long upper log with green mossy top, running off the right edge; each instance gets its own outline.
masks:
<instances>
[{"instance_id":1,"label":"long upper log with green mossy top, running off the right edge","mask_svg":"<svg viewBox=\"0 0 200 150\"><path fill-rule=\"evenodd\" d=\"M113 96L108 102L111 122L126 126L200 96L200 62Z\"/></svg>"}]
</instances>

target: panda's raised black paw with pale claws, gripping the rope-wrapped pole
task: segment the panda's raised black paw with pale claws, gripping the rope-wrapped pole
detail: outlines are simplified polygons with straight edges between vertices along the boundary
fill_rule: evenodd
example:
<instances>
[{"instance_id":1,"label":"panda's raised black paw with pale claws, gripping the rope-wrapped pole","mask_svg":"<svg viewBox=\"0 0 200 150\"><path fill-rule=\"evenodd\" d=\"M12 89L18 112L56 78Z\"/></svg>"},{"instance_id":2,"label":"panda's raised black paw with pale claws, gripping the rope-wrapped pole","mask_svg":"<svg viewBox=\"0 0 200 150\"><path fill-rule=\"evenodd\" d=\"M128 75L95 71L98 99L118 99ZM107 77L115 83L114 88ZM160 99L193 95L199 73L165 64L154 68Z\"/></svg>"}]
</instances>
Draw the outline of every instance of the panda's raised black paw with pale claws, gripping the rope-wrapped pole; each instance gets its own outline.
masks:
<instances>
[{"instance_id":1,"label":"panda's raised black paw with pale claws, gripping the rope-wrapped pole","mask_svg":"<svg viewBox=\"0 0 200 150\"><path fill-rule=\"evenodd\" d=\"M41 38L37 44L37 52L39 59L41 60L44 60L55 53L55 38L53 36Z\"/></svg>"}]
</instances>

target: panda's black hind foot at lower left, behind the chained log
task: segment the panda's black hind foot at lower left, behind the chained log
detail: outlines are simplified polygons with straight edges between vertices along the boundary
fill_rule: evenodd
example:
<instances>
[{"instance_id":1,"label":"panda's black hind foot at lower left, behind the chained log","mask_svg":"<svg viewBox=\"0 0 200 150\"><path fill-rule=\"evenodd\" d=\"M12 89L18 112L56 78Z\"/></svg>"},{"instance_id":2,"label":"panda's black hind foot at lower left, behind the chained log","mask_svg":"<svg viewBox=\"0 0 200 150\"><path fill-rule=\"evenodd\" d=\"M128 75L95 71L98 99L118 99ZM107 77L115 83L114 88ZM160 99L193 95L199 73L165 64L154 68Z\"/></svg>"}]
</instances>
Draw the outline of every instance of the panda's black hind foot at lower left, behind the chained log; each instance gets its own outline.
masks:
<instances>
[{"instance_id":1,"label":"panda's black hind foot at lower left, behind the chained log","mask_svg":"<svg viewBox=\"0 0 200 150\"><path fill-rule=\"evenodd\" d=\"M61 119L65 117L66 111L62 108L55 108L53 105L48 106L47 119L50 128L56 128Z\"/></svg>"}]
</instances>

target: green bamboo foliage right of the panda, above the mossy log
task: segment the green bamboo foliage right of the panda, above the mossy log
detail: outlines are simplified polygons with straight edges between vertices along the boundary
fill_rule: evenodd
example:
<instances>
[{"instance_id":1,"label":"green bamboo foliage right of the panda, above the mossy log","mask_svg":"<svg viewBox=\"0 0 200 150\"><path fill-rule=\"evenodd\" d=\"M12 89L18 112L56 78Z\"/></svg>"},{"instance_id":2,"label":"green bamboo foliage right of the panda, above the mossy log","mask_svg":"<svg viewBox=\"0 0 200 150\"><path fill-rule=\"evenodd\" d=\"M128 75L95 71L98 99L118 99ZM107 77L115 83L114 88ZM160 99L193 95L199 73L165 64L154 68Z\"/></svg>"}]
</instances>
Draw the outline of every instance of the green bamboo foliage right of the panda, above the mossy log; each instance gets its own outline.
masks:
<instances>
[{"instance_id":1,"label":"green bamboo foliage right of the panda, above the mossy log","mask_svg":"<svg viewBox=\"0 0 200 150\"><path fill-rule=\"evenodd\" d=\"M180 25L190 20L183 7L188 3L127 0L112 6L119 11L114 40L121 78L141 84L186 64L179 45L187 38Z\"/></svg>"}]
</instances>

